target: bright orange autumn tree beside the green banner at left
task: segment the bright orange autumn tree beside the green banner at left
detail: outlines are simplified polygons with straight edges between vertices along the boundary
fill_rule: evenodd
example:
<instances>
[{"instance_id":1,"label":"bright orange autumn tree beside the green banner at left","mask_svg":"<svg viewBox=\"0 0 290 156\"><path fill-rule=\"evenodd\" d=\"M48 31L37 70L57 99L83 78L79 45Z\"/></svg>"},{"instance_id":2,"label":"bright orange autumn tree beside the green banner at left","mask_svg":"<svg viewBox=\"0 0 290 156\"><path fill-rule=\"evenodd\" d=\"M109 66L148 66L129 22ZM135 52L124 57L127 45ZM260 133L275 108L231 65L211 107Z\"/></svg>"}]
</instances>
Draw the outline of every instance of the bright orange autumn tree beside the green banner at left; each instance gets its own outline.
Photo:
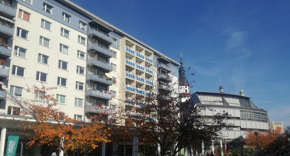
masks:
<instances>
[{"instance_id":1,"label":"bright orange autumn tree beside the green banner at left","mask_svg":"<svg viewBox=\"0 0 290 156\"><path fill-rule=\"evenodd\" d=\"M29 147L38 145L57 146L65 154L75 155L77 150L87 155L98 147L99 143L110 142L108 130L102 122L81 122L70 118L64 112L57 109L57 99L53 94L48 94L56 87L41 88L33 86L24 88L28 93L38 96L38 99L23 99L16 96L9 97L9 100L21 108L20 118L24 121L23 129L31 129L34 133L27 134L30 137L27 143Z\"/></svg>"}]
</instances>

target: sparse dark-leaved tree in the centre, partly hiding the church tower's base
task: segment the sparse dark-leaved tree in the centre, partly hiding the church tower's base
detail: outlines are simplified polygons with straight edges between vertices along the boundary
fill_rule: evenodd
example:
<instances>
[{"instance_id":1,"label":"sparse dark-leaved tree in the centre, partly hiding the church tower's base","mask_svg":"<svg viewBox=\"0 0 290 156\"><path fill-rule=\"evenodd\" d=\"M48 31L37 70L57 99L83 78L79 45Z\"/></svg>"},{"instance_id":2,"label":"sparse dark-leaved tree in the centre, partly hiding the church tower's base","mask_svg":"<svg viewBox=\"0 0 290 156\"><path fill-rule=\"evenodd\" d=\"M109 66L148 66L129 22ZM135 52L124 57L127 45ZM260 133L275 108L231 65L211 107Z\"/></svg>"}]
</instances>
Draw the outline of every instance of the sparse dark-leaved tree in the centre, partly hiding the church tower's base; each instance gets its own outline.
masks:
<instances>
[{"instance_id":1,"label":"sparse dark-leaved tree in the centre, partly hiding the church tower's base","mask_svg":"<svg viewBox=\"0 0 290 156\"><path fill-rule=\"evenodd\" d=\"M154 74L151 85L140 84L138 81L143 78L136 81L119 77L127 84L118 83L119 93L125 95L119 96L115 104L124 120L117 129L121 140L139 135L146 145L157 145L161 156L173 156L188 146L189 130L193 140L210 140L227 127L226 112L216 113L215 118L201 119L201 112L210 108L195 108L189 102L180 104L178 80L165 74L167 84L164 85L156 78L163 73L155 71Z\"/></svg>"}]
</instances>

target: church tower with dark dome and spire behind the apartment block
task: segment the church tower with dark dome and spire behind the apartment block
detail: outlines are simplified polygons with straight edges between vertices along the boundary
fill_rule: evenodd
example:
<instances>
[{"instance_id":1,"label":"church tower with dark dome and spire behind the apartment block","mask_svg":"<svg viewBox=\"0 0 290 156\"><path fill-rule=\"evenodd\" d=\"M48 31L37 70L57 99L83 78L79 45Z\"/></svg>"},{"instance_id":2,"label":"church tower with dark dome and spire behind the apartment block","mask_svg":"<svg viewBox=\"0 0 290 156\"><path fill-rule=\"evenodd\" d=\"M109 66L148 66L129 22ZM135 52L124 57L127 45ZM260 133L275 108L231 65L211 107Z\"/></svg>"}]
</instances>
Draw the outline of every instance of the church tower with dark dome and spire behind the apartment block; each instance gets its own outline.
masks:
<instances>
[{"instance_id":1,"label":"church tower with dark dome and spire behind the apartment block","mask_svg":"<svg viewBox=\"0 0 290 156\"><path fill-rule=\"evenodd\" d=\"M178 78L178 83L179 83L179 100L180 102L186 102L190 100L190 91L189 91L189 83L185 77L185 69L182 67L183 62L182 62L182 55L180 55L180 68L179 68L179 78Z\"/></svg>"}]
</instances>

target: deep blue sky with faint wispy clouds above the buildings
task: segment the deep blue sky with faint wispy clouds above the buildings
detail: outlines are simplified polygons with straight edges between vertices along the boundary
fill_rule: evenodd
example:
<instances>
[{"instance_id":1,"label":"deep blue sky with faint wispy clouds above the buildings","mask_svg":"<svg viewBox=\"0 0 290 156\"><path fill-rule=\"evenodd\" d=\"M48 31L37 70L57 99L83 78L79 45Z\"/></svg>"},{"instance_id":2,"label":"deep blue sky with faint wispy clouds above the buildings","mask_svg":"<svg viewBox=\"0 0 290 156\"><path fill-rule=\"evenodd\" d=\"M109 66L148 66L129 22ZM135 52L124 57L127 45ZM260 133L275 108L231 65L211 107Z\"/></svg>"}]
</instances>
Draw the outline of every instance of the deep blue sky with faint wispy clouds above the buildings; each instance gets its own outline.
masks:
<instances>
[{"instance_id":1,"label":"deep blue sky with faint wispy clouds above the buildings","mask_svg":"<svg viewBox=\"0 0 290 156\"><path fill-rule=\"evenodd\" d=\"M191 67L197 91L245 96L290 125L290 1L72 0ZM193 93L193 90L191 91Z\"/></svg>"}]
</instances>

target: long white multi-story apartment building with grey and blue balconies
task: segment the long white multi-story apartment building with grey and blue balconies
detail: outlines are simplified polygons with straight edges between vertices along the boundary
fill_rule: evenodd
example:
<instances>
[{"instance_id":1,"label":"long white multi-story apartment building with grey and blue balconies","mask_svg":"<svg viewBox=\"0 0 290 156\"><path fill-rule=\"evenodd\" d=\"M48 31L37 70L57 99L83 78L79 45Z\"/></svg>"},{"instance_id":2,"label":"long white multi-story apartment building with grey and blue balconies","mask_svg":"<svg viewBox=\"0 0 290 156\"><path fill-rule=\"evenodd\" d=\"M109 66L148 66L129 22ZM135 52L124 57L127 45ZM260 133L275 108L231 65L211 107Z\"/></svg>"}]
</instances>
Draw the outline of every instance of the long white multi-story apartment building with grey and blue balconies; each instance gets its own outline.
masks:
<instances>
[{"instance_id":1,"label":"long white multi-story apartment building with grey and blue balconies","mask_svg":"<svg viewBox=\"0 0 290 156\"><path fill-rule=\"evenodd\" d=\"M62 155L50 147L26 149L29 138L16 126L20 108L7 100L7 92L41 101L23 88L57 87L48 93L57 99L56 108L91 122L87 117L98 113L95 104L115 108L118 99L150 94L154 83L168 90L170 82L178 81L178 62L68 0L4 0L0 22L0 156L9 135L20 136L19 155ZM121 106L129 109L130 104ZM132 144L118 150L132 152ZM112 155L112 146L93 154Z\"/></svg>"}]
</instances>

